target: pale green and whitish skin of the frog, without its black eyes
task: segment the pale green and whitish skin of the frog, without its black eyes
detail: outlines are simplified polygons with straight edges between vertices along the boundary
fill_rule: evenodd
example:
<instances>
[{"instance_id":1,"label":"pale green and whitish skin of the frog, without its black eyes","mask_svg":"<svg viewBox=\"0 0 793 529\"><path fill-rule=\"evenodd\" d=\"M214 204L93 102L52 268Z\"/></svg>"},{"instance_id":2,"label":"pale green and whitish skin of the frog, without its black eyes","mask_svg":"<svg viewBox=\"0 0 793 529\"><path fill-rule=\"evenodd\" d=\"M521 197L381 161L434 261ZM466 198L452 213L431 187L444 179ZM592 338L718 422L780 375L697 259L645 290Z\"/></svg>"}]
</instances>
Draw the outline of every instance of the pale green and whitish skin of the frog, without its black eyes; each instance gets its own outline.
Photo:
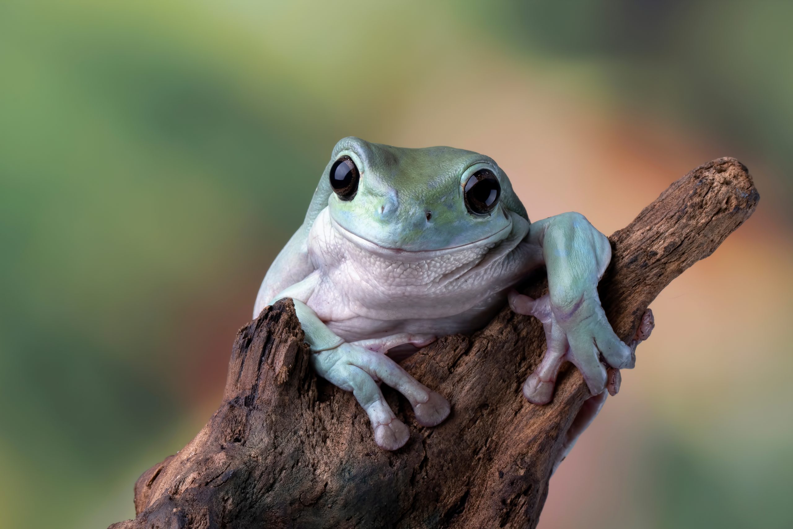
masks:
<instances>
[{"instance_id":1,"label":"pale green and whitish skin of the frog, without its black eyes","mask_svg":"<svg viewBox=\"0 0 793 529\"><path fill-rule=\"evenodd\" d=\"M336 174L334 164L343 157L360 175L352 196L331 186L331 170ZM472 195L465 191L482 170L500 185L487 213L469 208ZM515 284L543 265L547 297L509 294L512 309L537 316L548 336L546 357L523 393L536 404L549 402L567 360L592 395L605 398L607 368L634 365L632 348L611 330L597 294L610 259L606 237L579 213L530 223L507 175L487 156L348 137L336 144L303 224L267 271L254 317L292 297L317 374L352 391L377 445L395 450L409 432L378 382L402 393L424 426L439 424L450 406L385 352L476 331ZM589 406L594 411L580 424L585 427L600 405Z\"/></svg>"}]
</instances>

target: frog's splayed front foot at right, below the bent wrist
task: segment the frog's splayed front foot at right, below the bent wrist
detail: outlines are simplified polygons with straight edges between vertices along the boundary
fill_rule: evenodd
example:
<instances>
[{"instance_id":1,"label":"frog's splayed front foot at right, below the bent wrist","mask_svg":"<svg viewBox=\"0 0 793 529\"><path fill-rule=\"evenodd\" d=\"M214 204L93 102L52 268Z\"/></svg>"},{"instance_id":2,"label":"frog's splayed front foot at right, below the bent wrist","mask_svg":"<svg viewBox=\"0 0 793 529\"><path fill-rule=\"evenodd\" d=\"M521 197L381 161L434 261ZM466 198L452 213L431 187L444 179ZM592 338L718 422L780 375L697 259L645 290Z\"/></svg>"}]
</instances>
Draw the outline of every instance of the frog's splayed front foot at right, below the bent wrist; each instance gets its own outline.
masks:
<instances>
[{"instance_id":1,"label":"frog's splayed front foot at right, below the bent wrist","mask_svg":"<svg viewBox=\"0 0 793 529\"><path fill-rule=\"evenodd\" d=\"M572 312L565 313L554 309L547 294L535 300L513 290L509 293L509 304L519 314L536 317L545 328L546 353L523 384L523 394L530 402L550 402L557 374L565 361L578 368L592 395L606 389L607 367L633 367L630 347L611 330L600 303L582 298ZM571 326L572 321L577 323Z\"/></svg>"}]
</instances>

